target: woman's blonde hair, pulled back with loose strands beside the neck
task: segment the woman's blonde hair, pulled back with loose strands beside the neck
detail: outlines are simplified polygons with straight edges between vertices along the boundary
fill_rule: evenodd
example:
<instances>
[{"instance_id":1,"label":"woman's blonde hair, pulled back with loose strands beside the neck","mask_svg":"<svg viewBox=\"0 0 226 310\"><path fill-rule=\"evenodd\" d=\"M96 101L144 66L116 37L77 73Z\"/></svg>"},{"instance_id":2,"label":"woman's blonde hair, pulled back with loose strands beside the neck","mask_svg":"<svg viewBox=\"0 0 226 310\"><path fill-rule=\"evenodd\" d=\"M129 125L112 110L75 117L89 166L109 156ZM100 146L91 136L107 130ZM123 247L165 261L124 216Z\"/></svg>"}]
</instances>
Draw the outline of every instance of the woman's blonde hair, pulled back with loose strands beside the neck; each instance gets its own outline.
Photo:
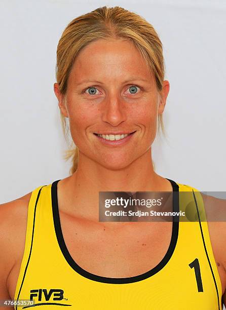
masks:
<instances>
[{"instance_id":1,"label":"woman's blonde hair, pulled back with loose strands beside the neck","mask_svg":"<svg viewBox=\"0 0 226 310\"><path fill-rule=\"evenodd\" d=\"M162 42L154 27L136 13L121 7L97 8L96 10L74 18L63 31L57 46L56 81L62 94L66 94L67 80L74 59L88 44L107 38L130 40L144 59L150 72L154 74L157 89L162 90L165 76ZM78 167L79 150L69 142L69 126L60 112L64 137L68 144L64 159L72 158L70 175ZM162 114L158 115L158 131L161 126L165 135Z\"/></svg>"}]
</instances>

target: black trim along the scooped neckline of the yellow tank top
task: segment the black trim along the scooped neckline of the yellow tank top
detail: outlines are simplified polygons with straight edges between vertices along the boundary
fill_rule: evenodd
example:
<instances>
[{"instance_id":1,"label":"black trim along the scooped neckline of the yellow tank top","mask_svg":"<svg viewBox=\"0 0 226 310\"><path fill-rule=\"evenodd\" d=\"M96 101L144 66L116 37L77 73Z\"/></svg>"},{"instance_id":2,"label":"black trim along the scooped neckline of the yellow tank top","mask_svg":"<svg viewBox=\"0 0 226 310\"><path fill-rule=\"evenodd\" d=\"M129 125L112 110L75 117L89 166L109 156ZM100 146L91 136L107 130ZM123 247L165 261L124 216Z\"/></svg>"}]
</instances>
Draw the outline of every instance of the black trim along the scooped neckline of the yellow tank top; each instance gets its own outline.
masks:
<instances>
[{"instance_id":1,"label":"black trim along the scooped neckline of the yellow tank top","mask_svg":"<svg viewBox=\"0 0 226 310\"><path fill-rule=\"evenodd\" d=\"M179 212L179 186L176 182L167 179L170 181L172 187L173 187L173 212ZM175 250L177 239L178 239L178 231L179 231L179 215L173 216L173 222L172 222L172 235L171 235L171 241L169 248L163 257L163 259L156 265L154 268L148 270L146 273L129 277L129 278L108 278L108 277L102 277L97 276L92 273L87 272L85 269L80 267L76 261L73 260L71 257L66 244L64 242L61 224L60 224L60 216L59 216L59 208L58 208L58 200L57 200L57 183L60 180L54 181L51 186L51 197L52 197L52 210L53 210L53 221L54 221L54 227L55 227L55 233L57 237L57 241L60 247L60 250L68 262L68 264L81 276L96 281L96 282L102 282L102 283L109 283L109 284L126 284L126 283L134 283L138 281L145 280L149 277L152 277L153 275L157 274L170 260L171 256L173 255L173 252Z\"/></svg>"}]
</instances>

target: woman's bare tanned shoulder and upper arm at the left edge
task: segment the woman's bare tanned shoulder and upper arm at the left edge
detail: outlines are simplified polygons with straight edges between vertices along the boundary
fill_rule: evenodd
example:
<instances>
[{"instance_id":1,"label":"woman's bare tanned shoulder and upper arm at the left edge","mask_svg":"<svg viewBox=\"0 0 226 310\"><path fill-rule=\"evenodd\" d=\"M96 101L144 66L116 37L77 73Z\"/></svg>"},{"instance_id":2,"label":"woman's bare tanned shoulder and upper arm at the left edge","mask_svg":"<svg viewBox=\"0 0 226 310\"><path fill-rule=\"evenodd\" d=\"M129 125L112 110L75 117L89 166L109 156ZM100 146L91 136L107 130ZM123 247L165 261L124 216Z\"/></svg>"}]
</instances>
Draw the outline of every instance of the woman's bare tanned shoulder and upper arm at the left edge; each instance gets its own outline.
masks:
<instances>
[{"instance_id":1,"label":"woman's bare tanned shoulder and upper arm at the left edge","mask_svg":"<svg viewBox=\"0 0 226 310\"><path fill-rule=\"evenodd\" d=\"M23 255L31 192L0 205L0 299L9 298L7 280Z\"/></svg>"}]
</instances>

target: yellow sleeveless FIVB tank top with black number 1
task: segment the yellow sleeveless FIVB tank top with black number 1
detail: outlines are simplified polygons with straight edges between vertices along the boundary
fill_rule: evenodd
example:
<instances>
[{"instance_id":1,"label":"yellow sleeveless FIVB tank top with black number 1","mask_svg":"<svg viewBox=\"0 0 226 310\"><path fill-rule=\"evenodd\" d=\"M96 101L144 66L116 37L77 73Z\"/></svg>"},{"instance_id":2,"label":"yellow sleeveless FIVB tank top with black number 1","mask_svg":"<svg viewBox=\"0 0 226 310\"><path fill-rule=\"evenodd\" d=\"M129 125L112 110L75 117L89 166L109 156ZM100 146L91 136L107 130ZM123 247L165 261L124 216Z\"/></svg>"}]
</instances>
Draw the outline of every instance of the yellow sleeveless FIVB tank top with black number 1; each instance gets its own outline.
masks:
<instances>
[{"instance_id":1,"label":"yellow sleeveless FIVB tank top with black number 1","mask_svg":"<svg viewBox=\"0 0 226 310\"><path fill-rule=\"evenodd\" d=\"M191 191L197 214L205 216L197 189L168 180L173 186L173 211L183 209L179 191ZM130 278L101 277L81 268L67 250L58 211L58 181L32 191L15 300L34 300L32 308L39 310L222 309L207 222L184 222L175 216L169 248L157 266Z\"/></svg>"}]
</instances>

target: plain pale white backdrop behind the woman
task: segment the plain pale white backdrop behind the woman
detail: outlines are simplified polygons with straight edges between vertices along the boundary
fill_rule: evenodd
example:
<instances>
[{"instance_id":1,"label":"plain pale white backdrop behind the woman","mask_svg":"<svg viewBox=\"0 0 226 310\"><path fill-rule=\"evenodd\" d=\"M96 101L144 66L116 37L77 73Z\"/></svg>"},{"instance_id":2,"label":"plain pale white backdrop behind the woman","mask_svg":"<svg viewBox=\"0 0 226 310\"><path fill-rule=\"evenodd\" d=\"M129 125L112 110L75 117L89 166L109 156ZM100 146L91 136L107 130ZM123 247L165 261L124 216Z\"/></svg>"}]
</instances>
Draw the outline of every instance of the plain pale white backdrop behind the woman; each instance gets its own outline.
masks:
<instances>
[{"instance_id":1,"label":"plain pale white backdrop behind the woman","mask_svg":"<svg viewBox=\"0 0 226 310\"><path fill-rule=\"evenodd\" d=\"M167 139L153 144L157 173L226 190L225 0L1 0L0 203L68 176L53 91L57 44L73 18L104 5L140 14L163 42L171 88Z\"/></svg>"}]
</instances>

